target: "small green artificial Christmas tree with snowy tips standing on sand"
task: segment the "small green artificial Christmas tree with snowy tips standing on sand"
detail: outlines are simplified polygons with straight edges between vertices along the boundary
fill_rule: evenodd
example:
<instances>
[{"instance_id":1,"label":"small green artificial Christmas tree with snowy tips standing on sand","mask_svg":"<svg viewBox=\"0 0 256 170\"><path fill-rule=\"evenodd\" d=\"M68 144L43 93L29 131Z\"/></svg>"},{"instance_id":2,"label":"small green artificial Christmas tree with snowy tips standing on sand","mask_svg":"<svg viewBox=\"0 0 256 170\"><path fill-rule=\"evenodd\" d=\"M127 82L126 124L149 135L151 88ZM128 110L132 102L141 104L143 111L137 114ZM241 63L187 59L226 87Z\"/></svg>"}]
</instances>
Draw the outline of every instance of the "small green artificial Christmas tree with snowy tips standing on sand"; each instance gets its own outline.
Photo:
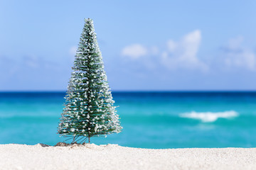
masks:
<instances>
[{"instance_id":1,"label":"small green artificial Christmas tree with snowy tips standing on sand","mask_svg":"<svg viewBox=\"0 0 256 170\"><path fill-rule=\"evenodd\" d=\"M116 113L93 21L85 19L58 133L73 142L122 130Z\"/></svg>"}]
</instances>

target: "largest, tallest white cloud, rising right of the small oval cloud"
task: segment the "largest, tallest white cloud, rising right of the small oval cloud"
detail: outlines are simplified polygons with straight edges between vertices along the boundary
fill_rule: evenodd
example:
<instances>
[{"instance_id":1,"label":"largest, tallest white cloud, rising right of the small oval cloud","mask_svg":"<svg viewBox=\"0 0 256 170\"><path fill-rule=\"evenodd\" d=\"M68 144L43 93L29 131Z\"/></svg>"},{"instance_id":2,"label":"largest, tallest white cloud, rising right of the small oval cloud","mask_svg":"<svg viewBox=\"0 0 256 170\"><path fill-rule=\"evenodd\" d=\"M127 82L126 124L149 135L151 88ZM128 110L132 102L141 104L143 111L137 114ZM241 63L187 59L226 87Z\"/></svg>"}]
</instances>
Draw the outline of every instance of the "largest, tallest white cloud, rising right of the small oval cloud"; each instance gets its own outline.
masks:
<instances>
[{"instance_id":1,"label":"largest, tallest white cloud, rising right of the small oval cloud","mask_svg":"<svg viewBox=\"0 0 256 170\"><path fill-rule=\"evenodd\" d=\"M167 41L168 50L162 52L161 63L169 69L201 69L206 71L208 66L198 59L197 53L201 44L201 31L194 30L183 36L180 41Z\"/></svg>"}]
</instances>

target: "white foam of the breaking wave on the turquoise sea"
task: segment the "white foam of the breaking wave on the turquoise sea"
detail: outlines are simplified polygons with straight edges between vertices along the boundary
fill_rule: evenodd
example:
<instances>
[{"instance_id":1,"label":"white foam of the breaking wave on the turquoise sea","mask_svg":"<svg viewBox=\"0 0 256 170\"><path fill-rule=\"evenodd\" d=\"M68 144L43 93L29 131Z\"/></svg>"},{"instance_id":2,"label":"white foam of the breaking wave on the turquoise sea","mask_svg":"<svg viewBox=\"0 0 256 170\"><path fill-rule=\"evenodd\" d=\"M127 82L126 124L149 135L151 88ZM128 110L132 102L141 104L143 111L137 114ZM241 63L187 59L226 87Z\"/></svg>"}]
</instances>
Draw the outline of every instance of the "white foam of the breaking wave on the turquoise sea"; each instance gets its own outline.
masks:
<instances>
[{"instance_id":1,"label":"white foam of the breaking wave on the turquoise sea","mask_svg":"<svg viewBox=\"0 0 256 170\"><path fill-rule=\"evenodd\" d=\"M179 115L181 118L193 118L199 119L203 122L214 122L218 118L234 118L238 116L236 111L224 111L224 112L195 112L191 113L181 113Z\"/></svg>"}]
</instances>

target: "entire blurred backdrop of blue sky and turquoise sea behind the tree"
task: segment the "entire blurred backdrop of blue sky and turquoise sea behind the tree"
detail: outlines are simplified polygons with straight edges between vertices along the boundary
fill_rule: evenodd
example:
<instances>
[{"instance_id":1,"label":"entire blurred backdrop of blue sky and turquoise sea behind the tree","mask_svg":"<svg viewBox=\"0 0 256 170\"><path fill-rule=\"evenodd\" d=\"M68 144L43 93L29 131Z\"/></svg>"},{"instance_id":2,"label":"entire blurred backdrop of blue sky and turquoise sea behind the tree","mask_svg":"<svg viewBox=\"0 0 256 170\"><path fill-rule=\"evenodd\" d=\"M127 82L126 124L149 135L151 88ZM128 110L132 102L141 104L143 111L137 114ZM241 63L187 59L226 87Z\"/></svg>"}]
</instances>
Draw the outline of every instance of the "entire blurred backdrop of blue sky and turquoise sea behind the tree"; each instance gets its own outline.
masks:
<instances>
[{"instance_id":1,"label":"entire blurred backdrop of blue sky and turquoise sea behind the tree","mask_svg":"<svg viewBox=\"0 0 256 170\"><path fill-rule=\"evenodd\" d=\"M84 18L123 131L95 144L256 147L256 1L0 1L0 144L55 145Z\"/></svg>"}]
</instances>

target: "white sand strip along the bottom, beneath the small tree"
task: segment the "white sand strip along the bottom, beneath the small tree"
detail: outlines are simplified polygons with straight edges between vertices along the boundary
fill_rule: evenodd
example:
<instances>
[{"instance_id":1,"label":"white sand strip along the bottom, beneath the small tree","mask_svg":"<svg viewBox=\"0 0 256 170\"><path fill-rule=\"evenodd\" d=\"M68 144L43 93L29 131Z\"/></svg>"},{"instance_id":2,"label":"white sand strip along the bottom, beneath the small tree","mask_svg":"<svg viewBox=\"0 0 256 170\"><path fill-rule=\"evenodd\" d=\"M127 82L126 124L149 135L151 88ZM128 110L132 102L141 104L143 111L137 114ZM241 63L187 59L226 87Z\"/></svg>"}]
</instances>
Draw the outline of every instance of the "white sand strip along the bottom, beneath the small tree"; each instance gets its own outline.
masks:
<instances>
[{"instance_id":1,"label":"white sand strip along the bottom, beneath the small tree","mask_svg":"<svg viewBox=\"0 0 256 170\"><path fill-rule=\"evenodd\" d=\"M0 169L256 169L256 148L0 145Z\"/></svg>"}]
</instances>

